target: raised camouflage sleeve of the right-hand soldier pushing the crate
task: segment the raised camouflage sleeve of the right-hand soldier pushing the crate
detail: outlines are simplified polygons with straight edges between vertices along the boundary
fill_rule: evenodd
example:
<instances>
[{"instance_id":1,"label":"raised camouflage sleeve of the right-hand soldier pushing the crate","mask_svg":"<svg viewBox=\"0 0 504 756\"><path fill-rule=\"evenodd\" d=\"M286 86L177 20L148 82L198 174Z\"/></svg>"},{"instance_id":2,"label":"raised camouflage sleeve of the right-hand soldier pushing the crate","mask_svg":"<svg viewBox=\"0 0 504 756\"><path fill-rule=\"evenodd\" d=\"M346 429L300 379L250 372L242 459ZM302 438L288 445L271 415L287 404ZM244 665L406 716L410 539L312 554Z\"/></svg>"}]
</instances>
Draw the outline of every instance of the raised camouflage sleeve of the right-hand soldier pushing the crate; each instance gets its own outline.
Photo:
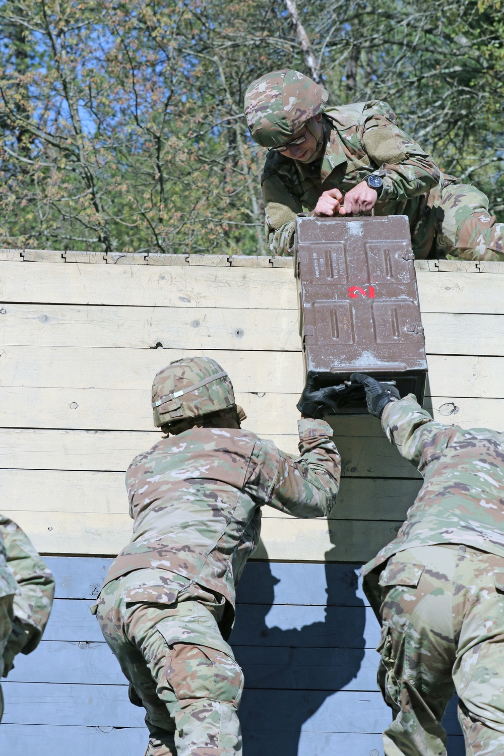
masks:
<instances>
[{"instance_id":1,"label":"raised camouflage sleeve of the right-hand soldier pushing the crate","mask_svg":"<svg viewBox=\"0 0 504 756\"><path fill-rule=\"evenodd\" d=\"M459 426L432 420L413 394L387 404L382 414L382 428L404 459L422 473L441 457L460 430Z\"/></svg>"}]
</instances>

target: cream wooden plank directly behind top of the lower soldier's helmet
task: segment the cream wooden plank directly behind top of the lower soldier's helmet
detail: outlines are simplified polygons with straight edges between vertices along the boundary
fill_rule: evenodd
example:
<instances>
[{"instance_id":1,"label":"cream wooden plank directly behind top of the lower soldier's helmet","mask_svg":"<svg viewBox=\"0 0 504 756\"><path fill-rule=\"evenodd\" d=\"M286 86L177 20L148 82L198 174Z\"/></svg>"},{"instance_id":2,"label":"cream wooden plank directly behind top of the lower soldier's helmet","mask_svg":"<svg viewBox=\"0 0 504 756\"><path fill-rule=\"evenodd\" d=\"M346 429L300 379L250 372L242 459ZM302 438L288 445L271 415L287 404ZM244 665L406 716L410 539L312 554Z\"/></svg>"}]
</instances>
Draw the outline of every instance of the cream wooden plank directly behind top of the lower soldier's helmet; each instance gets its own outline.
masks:
<instances>
[{"instance_id":1,"label":"cream wooden plank directly behind top of the lower soldier's helmet","mask_svg":"<svg viewBox=\"0 0 504 756\"><path fill-rule=\"evenodd\" d=\"M0 350L0 382L11 388L150 391L157 370L172 360L192 357L197 352L10 346ZM300 352L206 349L204 354L215 358L229 372L237 392L299 396L305 383ZM432 396L502 398L500 375L504 371L504 357L429 355L428 367L428 393ZM10 413L11 417L16 414Z\"/></svg>"}]
</instances>

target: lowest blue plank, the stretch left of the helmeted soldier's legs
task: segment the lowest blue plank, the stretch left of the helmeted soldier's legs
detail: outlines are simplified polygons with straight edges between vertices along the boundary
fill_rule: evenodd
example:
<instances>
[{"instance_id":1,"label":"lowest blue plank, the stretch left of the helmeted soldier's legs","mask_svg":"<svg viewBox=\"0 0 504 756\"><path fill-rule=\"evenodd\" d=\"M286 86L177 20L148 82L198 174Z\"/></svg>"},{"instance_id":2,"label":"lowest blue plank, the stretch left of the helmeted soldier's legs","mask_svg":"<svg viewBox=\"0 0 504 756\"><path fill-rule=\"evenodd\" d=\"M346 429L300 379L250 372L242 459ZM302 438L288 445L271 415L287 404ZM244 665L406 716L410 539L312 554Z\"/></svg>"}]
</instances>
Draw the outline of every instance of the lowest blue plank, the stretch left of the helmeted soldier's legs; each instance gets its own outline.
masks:
<instances>
[{"instance_id":1,"label":"lowest blue plank, the stretch left of the helmeted soldier's legs","mask_svg":"<svg viewBox=\"0 0 504 756\"><path fill-rule=\"evenodd\" d=\"M37 756L138 756L149 735L146 727L54 727L53 725L3 724L0 750L3 754L34 753Z\"/></svg>"}]
</instances>

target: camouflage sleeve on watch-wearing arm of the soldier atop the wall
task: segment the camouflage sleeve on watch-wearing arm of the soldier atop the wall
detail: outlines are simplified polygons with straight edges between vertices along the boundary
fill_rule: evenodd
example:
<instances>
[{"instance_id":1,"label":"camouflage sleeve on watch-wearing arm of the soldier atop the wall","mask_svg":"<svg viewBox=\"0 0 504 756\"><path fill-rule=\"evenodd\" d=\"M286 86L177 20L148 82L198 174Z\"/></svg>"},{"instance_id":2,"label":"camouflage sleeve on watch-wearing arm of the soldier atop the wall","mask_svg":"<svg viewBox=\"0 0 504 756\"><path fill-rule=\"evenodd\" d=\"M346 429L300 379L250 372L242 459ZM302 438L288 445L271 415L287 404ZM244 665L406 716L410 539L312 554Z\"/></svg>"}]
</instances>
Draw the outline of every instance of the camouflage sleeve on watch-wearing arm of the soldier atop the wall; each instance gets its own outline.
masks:
<instances>
[{"instance_id":1,"label":"camouflage sleeve on watch-wearing arm of the soldier atop the wall","mask_svg":"<svg viewBox=\"0 0 504 756\"><path fill-rule=\"evenodd\" d=\"M419 197L441 179L433 158L410 136L384 116L373 116L363 126L362 143L383 181L379 204Z\"/></svg>"}]
</instances>

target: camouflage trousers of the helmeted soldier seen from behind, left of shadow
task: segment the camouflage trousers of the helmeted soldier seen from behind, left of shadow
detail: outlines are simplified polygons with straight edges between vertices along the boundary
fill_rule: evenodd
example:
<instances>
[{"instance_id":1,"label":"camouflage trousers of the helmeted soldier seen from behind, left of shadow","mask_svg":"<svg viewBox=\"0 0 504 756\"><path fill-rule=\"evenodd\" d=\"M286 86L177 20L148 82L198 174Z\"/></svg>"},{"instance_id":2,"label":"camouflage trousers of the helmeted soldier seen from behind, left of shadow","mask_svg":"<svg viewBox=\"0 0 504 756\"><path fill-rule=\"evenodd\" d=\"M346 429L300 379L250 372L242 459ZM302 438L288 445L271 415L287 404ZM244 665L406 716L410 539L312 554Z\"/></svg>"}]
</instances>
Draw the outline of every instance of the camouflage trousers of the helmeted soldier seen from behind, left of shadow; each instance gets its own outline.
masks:
<instances>
[{"instance_id":1,"label":"camouflage trousers of the helmeted soldier seen from behind, left of shadow","mask_svg":"<svg viewBox=\"0 0 504 756\"><path fill-rule=\"evenodd\" d=\"M223 605L180 600L176 592L173 603L156 600L167 575L130 572L104 586L97 606L129 698L147 712L145 756L240 756L243 674L218 629Z\"/></svg>"}]
</instances>

